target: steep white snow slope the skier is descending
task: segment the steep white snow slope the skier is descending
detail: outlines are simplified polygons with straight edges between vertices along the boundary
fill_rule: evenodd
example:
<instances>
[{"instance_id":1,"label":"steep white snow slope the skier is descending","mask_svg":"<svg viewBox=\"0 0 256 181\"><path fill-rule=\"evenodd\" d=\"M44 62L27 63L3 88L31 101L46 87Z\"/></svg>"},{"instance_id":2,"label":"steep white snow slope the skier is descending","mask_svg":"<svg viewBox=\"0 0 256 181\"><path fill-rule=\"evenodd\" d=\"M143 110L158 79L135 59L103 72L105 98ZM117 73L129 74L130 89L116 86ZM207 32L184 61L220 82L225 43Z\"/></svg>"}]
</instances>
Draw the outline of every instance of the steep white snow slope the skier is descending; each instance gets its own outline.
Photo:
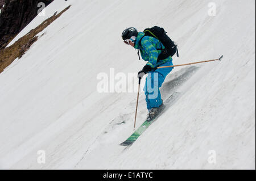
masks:
<instances>
[{"instance_id":1,"label":"steep white snow slope the skier is descending","mask_svg":"<svg viewBox=\"0 0 256 181\"><path fill-rule=\"evenodd\" d=\"M0 74L0 169L255 169L255 1L216 0L216 16L210 2L53 1L10 44L72 6ZM181 96L125 149L137 79L101 93L97 76L136 75L145 62L121 33L154 25L179 44L174 64L224 58L175 68L162 96ZM141 92L137 127L146 114Z\"/></svg>"}]
</instances>

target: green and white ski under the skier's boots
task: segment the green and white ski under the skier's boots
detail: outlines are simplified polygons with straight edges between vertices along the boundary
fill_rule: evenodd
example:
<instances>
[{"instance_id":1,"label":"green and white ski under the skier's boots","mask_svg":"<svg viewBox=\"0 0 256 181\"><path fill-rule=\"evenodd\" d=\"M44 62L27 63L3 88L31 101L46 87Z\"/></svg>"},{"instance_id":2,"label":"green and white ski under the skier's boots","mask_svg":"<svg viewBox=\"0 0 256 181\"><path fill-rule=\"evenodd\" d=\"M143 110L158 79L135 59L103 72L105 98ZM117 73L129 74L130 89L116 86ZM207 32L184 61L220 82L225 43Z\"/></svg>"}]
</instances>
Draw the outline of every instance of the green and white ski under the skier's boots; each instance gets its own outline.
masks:
<instances>
[{"instance_id":1,"label":"green and white ski under the skier's boots","mask_svg":"<svg viewBox=\"0 0 256 181\"><path fill-rule=\"evenodd\" d=\"M136 131L131 134L131 136L129 138L127 138L127 140L125 140L124 142L122 142L121 146L129 146L131 144L134 143L134 141L136 141L138 139L139 136L141 136L141 134L146 131L146 129L156 120L158 119L158 117L164 112L164 110L166 110L168 107L170 107L172 104L174 104L175 100L177 100L177 98L179 97L180 92L174 92L173 94L171 94L165 101L164 101L164 106L162 108L162 110L160 110L158 112L158 115L156 115L155 117L153 117L150 121L147 119L146 121L144 121L144 123L136 129Z\"/></svg>"}]
</instances>

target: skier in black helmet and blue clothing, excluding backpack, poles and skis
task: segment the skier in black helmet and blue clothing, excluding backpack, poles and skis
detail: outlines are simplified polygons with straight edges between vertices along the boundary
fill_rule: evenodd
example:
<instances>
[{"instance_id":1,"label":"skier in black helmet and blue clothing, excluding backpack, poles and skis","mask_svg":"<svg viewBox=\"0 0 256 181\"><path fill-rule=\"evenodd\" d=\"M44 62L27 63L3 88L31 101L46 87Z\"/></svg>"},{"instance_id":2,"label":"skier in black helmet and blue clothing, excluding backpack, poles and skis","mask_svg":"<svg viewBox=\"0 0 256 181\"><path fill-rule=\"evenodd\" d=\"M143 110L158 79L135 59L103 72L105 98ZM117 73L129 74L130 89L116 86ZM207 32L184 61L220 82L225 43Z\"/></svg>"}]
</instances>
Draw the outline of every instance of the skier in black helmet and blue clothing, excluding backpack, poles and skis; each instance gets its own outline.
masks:
<instances>
[{"instance_id":1,"label":"skier in black helmet and blue clothing, excluding backpack, poles and skis","mask_svg":"<svg viewBox=\"0 0 256 181\"><path fill-rule=\"evenodd\" d=\"M170 66L172 57L169 56L164 60L158 60L159 54L164 49L164 45L155 37L145 36L145 33L138 32L136 28L130 27L122 32L123 42L131 45L141 52L141 56L147 64L138 72L138 78L142 79L148 73L144 92L148 109L148 118L151 120L163 109L163 100L159 88L162 86L166 76L173 68L157 69L159 66Z\"/></svg>"}]
</instances>

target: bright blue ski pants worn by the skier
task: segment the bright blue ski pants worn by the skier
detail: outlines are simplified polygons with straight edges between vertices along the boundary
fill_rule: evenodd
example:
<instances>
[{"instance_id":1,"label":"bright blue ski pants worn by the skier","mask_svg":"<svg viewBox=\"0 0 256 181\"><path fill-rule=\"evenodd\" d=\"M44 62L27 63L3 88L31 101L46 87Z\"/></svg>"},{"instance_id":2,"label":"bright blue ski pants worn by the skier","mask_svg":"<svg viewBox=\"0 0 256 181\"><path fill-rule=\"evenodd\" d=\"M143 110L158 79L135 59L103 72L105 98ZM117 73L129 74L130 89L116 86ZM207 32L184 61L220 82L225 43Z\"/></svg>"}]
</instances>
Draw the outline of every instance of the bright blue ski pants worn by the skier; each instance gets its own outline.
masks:
<instances>
[{"instance_id":1,"label":"bright blue ski pants worn by the skier","mask_svg":"<svg viewBox=\"0 0 256 181\"><path fill-rule=\"evenodd\" d=\"M172 65L172 61L162 64L159 67L170 65ZM155 71L150 71L148 73L143 89L146 95L148 110L151 110L151 108L160 107L160 105L163 103L159 88L162 86L164 79L172 71L172 69L173 68L156 69Z\"/></svg>"}]
</instances>

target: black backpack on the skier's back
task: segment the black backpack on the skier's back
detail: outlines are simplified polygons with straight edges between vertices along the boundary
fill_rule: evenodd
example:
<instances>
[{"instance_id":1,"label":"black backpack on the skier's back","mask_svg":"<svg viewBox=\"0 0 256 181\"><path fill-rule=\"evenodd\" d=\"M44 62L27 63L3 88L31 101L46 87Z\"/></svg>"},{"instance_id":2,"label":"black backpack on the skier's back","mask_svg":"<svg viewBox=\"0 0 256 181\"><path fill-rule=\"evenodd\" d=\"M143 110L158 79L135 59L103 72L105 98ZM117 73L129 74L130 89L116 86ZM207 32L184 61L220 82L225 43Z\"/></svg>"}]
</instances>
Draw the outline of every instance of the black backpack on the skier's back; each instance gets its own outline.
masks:
<instances>
[{"instance_id":1,"label":"black backpack on the skier's back","mask_svg":"<svg viewBox=\"0 0 256 181\"><path fill-rule=\"evenodd\" d=\"M174 41L172 41L168 35L166 35L167 32L164 31L163 28L160 28L158 26L154 26L152 28L146 28L143 31L143 33L145 33L144 36L155 37L156 39L161 41L161 43L164 45L165 49L161 49L162 52L158 56L158 61L159 60L164 60L169 56L174 56L174 54L176 52L177 52L177 57L179 57L179 52L177 50L177 44ZM139 42L139 44L141 44L141 41Z\"/></svg>"}]
</instances>

